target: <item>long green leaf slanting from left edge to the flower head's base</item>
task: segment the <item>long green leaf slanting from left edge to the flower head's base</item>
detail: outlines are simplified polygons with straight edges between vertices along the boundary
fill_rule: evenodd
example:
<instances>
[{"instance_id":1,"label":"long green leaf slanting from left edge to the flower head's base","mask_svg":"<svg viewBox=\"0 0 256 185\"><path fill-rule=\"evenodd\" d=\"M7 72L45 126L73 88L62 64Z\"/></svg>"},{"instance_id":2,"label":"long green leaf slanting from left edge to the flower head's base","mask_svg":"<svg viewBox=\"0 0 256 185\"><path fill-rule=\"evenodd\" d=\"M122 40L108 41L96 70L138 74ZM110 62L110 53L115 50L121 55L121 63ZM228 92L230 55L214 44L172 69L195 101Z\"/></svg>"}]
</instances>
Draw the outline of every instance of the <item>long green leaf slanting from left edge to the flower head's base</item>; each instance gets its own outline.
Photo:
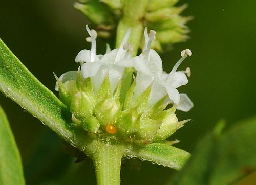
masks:
<instances>
[{"instance_id":1,"label":"long green leaf slanting from left edge to the flower head's base","mask_svg":"<svg viewBox=\"0 0 256 185\"><path fill-rule=\"evenodd\" d=\"M70 128L72 115L68 108L30 73L1 39L0 90L68 143L85 150L89 139L86 134ZM90 146L89 152L94 150Z\"/></svg>"}]
</instances>

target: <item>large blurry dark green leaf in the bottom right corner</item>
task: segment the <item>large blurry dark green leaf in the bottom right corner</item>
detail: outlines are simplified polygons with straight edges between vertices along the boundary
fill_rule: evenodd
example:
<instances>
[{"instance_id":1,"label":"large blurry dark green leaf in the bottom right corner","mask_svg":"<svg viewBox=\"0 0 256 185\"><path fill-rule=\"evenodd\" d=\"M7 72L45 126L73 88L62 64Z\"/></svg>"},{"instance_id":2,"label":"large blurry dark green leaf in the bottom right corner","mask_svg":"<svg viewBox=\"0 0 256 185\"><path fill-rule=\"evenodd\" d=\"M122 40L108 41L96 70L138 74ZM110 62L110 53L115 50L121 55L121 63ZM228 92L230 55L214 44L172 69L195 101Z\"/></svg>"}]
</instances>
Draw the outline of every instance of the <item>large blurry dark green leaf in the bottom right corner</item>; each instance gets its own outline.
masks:
<instances>
[{"instance_id":1,"label":"large blurry dark green leaf in the bottom right corner","mask_svg":"<svg viewBox=\"0 0 256 185\"><path fill-rule=\"evenodd\" d=\"M223 125L223 124L222 124ZM170 184L234 184L256 170L256 118L207 134ZM218 130L218 131L216 131Z\"/></svg>"}]
</instances>

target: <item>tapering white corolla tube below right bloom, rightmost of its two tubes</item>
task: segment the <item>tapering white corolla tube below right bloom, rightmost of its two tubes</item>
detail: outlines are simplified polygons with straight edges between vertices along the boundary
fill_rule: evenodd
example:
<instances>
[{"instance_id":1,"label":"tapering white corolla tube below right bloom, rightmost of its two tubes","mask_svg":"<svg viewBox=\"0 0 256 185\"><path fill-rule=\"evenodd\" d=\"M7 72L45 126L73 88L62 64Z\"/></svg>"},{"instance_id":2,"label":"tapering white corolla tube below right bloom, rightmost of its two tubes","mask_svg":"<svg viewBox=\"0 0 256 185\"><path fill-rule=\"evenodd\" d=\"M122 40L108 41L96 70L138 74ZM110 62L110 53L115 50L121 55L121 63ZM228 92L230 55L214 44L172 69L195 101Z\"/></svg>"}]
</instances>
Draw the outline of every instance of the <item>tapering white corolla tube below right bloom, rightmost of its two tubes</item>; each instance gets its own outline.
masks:
<instances>
[{"instance_id":1,"label":"tapering white corolla tube below right bloom, rightmost of its two tubes","mask_svg":"<svg viewBox=\"0 0 256 185\"><path fill-rule=\"evenodd\" d=\"M166 88L160 83L154 81L150 92L150 98L148 100L148 107L155 105L155 103L162 99L166 94Z\"/></svg>"}]
</instances>

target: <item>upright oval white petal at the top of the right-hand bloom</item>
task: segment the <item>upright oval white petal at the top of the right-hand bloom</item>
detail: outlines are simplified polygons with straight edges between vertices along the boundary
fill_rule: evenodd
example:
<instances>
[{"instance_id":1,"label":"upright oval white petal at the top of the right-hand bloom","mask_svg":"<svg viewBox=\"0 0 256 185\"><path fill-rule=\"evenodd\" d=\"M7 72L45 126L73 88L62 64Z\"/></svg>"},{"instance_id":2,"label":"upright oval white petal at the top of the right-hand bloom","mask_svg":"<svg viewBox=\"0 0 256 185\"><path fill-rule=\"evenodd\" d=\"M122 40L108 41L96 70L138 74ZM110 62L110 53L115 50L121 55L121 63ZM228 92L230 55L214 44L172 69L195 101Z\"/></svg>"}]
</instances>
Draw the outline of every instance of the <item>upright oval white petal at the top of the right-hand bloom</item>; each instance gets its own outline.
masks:
<instances>
[{"instance_id":1,"label":"upright oval white petal at the top of the right-hand bloom","mask_svg":"<svg viewBox=\"0 0 256 185\"><path fill-rule=\"evenodd\" d=\"M150 58L148 62L148 67L154 78L159 79L163 73L163 64L160 56L155 50L150 50Z\"/></svg>"}]
</instances>

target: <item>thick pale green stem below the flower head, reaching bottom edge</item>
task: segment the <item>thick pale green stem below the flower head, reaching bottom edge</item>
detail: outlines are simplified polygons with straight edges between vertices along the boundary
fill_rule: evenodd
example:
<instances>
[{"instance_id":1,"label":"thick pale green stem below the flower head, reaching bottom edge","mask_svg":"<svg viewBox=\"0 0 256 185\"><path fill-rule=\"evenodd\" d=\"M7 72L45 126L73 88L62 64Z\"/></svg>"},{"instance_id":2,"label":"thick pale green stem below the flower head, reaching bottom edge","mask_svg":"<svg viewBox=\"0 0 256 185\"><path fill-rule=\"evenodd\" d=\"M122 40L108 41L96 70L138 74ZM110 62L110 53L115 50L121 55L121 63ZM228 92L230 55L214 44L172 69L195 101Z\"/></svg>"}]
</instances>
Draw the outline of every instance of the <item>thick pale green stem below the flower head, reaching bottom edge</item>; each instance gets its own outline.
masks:
<instances>
[{"instance_id":1,"label":"thick pale green stem below the flower head, reaching bottom edge","mask_svg":"<svg viewBox=\"0 0 256 185\"><path fill-rule=\"evenodd\" d=\"M123 146L99 142L98 149L92 155L98 185L120 184L123 154Z\"/></svg>"}]
</instances>

